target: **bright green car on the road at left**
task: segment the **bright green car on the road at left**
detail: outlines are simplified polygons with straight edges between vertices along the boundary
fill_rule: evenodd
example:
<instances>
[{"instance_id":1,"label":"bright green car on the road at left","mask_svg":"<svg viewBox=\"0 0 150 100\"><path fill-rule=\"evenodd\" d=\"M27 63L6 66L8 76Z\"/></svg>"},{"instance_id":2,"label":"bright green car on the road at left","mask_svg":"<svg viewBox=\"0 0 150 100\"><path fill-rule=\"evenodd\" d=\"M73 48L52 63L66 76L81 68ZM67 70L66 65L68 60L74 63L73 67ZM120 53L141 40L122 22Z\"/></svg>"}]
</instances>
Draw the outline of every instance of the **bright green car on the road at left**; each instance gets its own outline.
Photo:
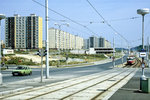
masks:
<instances>
[{"instance_id":1,"label":"bright green car on the road at left","mask_svg":"<svg viewBox=\"0 0 150 100\"><path fill-rule=\"evenodd\" d=\"M18 66L15 70L12 71L12 75L31 75L32 69L28 66Z\"/></svg>"}]
</instances>

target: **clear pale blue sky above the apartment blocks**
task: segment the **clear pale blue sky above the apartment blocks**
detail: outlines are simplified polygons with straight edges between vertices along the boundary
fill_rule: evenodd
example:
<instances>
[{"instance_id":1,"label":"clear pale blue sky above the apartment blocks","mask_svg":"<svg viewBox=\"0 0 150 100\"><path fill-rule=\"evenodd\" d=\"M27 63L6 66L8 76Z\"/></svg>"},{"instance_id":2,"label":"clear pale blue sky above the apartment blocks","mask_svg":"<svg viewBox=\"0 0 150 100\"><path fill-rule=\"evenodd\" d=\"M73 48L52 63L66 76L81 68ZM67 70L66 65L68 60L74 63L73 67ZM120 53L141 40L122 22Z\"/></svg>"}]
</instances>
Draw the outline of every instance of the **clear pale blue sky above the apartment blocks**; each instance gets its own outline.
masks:
<instances>
[{"instance_id":1,"label":"clear pale blue sky above the apartment blocks","mask_svg":"<svg viewBox=\"0 0 150 100\"><path fill-rule=\"evenodd\" d=\"M43 40L45 40L45 7L34 1L45 5L45 0L0 0L0 14L5 14L7 17L14 14L29 16L33 13L41 16L43 18ZM58 28L55 25L58 23L61 24L62 30L79 35L84 39L90 36L101 36L113 43L113 38L115 38L116 47L126 48L128 45L134 47L142 44L142 16L137 14L137 9L150 8L150 0L88 1L109 25L128 40L128 43L120 35L115 34L116 32L104 22L87 0L48 0L49 28ZM4 23L5 20L2 20L2 40L5 36ZM66 23L69 24L69 27L62 25ZM145 15L144 25L146 44L147 37L150 36L150 14Z\"/></svg>"}]
</instances>

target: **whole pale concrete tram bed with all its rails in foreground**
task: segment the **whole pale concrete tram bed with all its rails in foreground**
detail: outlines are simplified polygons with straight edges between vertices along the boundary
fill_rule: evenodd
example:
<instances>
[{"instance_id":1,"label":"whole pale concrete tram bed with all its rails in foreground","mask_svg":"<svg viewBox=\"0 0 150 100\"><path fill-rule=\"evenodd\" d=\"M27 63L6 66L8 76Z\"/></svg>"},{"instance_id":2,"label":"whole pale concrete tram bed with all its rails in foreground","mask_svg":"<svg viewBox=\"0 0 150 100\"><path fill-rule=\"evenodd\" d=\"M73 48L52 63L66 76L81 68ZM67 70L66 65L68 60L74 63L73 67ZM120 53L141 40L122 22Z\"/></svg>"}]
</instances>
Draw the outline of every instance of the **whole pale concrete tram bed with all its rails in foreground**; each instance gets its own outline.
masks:
<instances>
[{"instance_id":1,"label":"whole pale concrete tram bed with all its rails in foreground","mask_svg":"<svg viewBox=\"0 0 150 100\"><path fill-rule=\"evenodd\" d=\"M48 84L54 79L38 79L20 81L8 84L3 88L24 87L22 90L1 92L0 99L4 100L99 100L108 99L117 89L132 78L137 69L114 68L102 73L96 73L79 78ZM44 85L44 86L43 86ZM9 87L8 87L9 86ZM18 91L18 92L17 92ZM20 92L19 92L20 91ZM9 93L9 94L8 94ZM6 95L7 94L7 95Z\"/></svg>"}]
</instances>

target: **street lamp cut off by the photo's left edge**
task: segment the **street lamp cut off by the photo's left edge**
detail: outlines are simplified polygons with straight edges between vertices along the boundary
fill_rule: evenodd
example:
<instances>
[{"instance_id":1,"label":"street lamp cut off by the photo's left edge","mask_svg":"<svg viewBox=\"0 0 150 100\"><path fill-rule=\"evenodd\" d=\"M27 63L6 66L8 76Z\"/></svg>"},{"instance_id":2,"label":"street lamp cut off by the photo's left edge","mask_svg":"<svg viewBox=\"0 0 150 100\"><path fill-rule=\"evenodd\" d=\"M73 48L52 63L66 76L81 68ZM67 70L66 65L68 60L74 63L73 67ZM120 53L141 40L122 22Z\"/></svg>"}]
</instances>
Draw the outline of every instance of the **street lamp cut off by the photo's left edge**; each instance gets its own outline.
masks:
<instances>
[{"instance_id":1,"label":"street lamp cut off by the photo's left edge","mask_svg":"<svg viewBox=\"0 0 150 100\"><path fill-rule=\"evenodd\" d=\"M5 19L5 15L0 14L0 85L3 83L2 74L1 74L1 20Z\"/></svg>"}]
</instances>

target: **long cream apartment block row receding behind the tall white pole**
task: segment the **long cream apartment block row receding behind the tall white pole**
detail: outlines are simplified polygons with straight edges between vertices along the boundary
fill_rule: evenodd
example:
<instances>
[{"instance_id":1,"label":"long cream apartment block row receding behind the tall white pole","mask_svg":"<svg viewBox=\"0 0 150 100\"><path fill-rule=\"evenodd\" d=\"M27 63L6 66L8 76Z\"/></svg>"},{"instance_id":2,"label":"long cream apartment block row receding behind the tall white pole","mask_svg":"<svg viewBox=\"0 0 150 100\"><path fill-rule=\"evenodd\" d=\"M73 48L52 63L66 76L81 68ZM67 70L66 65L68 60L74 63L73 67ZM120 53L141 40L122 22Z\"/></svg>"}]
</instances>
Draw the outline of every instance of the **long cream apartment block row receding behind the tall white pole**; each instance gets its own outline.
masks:
<instances>
[{"instance_id":1,"label":"long cream apartment block row receding behind the tall white pole","mask_svg":"<svg viewBox=\"0 0 150 100\"><path fill-rule=\"evenodd\" d=\"M72 35L68 32L50 28L49 31L49 48L50 49L82 49L83 38Z\"/></svg>"}]
</instances>

